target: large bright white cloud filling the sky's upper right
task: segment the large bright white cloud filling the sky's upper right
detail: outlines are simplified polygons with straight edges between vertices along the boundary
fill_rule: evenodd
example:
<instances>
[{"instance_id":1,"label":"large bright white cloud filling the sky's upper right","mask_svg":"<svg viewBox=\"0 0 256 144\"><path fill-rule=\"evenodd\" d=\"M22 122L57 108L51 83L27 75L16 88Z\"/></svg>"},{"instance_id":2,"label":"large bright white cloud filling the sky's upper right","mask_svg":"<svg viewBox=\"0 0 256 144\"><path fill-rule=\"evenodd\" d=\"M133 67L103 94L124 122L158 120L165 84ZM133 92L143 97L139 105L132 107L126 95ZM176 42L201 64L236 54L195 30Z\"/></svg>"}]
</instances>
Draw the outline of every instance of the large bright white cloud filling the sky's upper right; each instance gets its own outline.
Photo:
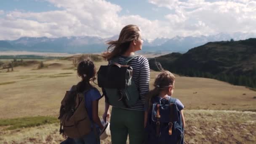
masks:
<instances>
[{"instance_id":1,"label":"large bright white cloud filling the sky's upper right","mask_svg":"<svg viewBox=\"0 0 256 144\"><path fill-rule=\"evenodd\" d=\"M253 0L149 0L158 7L174 9L165 16L184 35L220 32L256 32L256 2Z\"/></svg>"}]
</instances>

